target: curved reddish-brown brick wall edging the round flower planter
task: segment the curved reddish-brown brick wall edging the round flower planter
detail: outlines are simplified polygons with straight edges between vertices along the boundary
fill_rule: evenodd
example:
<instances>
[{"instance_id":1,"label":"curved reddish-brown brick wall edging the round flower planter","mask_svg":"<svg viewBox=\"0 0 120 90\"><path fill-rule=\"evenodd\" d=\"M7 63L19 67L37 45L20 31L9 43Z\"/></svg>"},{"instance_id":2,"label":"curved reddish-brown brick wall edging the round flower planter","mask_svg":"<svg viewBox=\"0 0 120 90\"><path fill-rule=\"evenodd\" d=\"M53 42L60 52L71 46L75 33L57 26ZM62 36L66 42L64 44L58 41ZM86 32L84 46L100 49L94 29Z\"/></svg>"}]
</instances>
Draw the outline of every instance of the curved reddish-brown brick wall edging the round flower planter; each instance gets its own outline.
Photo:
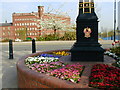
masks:
<instances>
[{"instance_id":1,"label":"curved reddish-brown brick wall edging the round flower planter","mask_svg":"<svg viewBox=\"0 0 120 90\"><path fill-rule=\"evenodd\" d=\"M56 50L63 51L63 50ZM68 50L65 50L68 51ZM53 52L53 51L48 51ZM30 70L25 66L24 60L29 56L37 56L48 52L38 52L22 57L17 62L18 87L19 88L80 88L79 84L75 84L66 80L60 80L52 76L41 74L34 70Z\"/></svg>"}]
</instances>

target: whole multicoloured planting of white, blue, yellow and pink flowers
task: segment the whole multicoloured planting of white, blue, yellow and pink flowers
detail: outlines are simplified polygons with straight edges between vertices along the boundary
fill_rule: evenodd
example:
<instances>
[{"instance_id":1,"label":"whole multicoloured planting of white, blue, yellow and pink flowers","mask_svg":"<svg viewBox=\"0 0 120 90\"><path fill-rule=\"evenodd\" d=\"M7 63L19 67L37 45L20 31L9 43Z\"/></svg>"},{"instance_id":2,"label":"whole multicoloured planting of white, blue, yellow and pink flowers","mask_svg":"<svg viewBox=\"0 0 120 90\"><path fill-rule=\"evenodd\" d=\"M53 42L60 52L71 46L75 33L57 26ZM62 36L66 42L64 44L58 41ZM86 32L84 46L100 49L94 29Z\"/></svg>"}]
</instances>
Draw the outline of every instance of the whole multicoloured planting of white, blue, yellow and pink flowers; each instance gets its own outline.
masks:
<instances>
[{"instance_id":1,"label":"whole multicoloured planting of white, blue, yellow and pink flowers","mask_svg":"<svg viewBox=\"0 0 120 90\"><path fill-rule=\"evenodd\" d=\"M55 52L53 52L55 53ZM56 52L59 55L68 55L65 51ZM56 54L55 53L55 54ZM45 73L50 76L57 77L62 80L68 80L74 83L80 81L84 66L80 64L69 65L59 61L60 56L51 54L40 54L36 57L28 57L25 59L25 64L31 70L40 73Z\"/></svg>"}]
</instances>

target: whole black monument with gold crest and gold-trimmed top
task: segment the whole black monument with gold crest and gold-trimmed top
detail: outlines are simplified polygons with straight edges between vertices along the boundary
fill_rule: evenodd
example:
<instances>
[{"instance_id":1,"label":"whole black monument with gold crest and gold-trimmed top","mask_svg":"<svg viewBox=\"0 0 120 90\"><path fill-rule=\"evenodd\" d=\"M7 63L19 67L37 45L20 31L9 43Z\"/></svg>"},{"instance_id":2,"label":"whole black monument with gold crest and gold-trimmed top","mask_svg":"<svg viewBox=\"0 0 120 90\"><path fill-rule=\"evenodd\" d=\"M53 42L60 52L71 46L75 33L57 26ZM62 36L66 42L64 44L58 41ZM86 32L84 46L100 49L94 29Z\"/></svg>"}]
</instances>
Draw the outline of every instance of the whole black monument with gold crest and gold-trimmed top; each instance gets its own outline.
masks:
<instances>
[{"instance_id":1,"label":"whole black monument with gold crest and gold-trimmed top","mask_svg":"<svg viewBox=\"0 0 120 90\"><path fill-rule=\"evenodd\" d=\"M98 17L93 0L79 0L76 43L71 48L72 61L104 61L104 49L98 43Z\"/></svg>"}]
</instances>

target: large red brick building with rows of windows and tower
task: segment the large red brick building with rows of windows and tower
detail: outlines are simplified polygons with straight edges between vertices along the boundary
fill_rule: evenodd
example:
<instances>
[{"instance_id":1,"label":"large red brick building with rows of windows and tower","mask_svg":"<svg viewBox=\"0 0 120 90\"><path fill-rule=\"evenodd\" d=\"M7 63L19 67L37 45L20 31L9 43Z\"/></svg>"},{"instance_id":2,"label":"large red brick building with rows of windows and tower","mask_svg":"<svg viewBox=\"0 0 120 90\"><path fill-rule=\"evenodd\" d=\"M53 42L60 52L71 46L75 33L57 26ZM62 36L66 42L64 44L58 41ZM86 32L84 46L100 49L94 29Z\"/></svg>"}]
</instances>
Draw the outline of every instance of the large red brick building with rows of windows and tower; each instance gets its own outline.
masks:
<instances>
[{"instance_id":1,"label":"large red brick building with rows of windows and tower","mask_svg":"<svg viewBox=\"0 0 120 90\"><path fill-rule=\"evenodd\" d=\"M70 24L69 16L56 15L51 13L44 13L44 6L38 6L38 12L31 13L13 13L12 23L0 24L0 38L1 39L26 39L44 36L46 34L53 34L52 29L42 29L40 20L59 18L64 20L64 23ZM59 31L59 33L64 33ZM23 38L21 38L23 36Z\"/></svg>"}]
</instances>

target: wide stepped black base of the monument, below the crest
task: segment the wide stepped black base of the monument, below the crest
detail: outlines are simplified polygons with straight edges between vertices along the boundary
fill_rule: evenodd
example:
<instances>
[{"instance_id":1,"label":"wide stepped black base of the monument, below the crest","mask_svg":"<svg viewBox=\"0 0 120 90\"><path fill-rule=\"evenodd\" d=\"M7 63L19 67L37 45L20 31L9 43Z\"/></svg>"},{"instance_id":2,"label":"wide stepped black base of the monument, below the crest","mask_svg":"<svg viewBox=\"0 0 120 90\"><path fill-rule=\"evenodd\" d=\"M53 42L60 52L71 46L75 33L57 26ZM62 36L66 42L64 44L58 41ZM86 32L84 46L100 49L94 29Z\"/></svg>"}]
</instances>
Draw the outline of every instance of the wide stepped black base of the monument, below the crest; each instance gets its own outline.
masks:
<instances>
[{"instance_id":1,"label":"wide stepped black base of the monument, below the crest","mask_svg":"<svg viewBox=\"0 0 120 90\"><path fill-rule=\"evenodd\" d=\"M70 50L71 61L103 62L104 49L99 43L75 43Z\"/></svg>"}]
</instances>

